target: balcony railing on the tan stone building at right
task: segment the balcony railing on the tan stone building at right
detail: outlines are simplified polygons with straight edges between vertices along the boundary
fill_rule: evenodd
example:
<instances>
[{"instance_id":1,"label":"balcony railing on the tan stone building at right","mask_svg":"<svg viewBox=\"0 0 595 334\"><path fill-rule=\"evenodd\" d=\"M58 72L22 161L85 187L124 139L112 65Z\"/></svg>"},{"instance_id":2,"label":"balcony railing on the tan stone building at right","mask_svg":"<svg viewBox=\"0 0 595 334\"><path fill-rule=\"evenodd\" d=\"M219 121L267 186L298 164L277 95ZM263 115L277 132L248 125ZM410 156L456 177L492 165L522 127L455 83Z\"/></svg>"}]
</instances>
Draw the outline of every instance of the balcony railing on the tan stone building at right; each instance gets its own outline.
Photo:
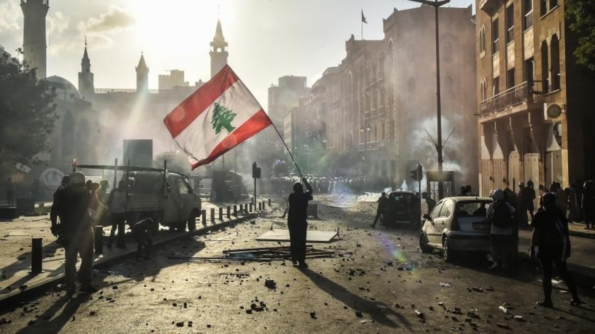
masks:
<instances>
[{"instance_id":1,"label":"balcony railing on the tan stone building at right","mask_svg":"<svg viewBox=\"0 0 595 334\"><path fill-rule=\"evenodd\" d=\"M537 102L538 84L540 84L539 81L525 81L502 93L488 97L480 102L480 114L484 116L525 102Z\"/></svg>"}]
</instances>

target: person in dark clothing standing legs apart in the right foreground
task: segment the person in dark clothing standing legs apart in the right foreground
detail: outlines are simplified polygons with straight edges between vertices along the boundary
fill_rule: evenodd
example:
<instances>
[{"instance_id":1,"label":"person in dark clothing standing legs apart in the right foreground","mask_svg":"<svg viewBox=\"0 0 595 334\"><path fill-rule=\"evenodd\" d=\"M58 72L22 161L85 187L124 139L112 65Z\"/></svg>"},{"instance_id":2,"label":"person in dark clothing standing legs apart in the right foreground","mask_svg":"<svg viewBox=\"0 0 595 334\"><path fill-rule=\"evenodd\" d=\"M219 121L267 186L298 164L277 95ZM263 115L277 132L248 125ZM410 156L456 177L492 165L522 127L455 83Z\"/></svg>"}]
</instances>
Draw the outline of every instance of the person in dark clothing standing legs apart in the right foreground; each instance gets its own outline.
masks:
<instances>
[{"instance_id":1,"label":"person in dark clothing standing legs apart in the right foreground","mask_svg":"<svg viewBox=\"0 0 595 334\"><path fill-rule=\"evenodd\" d=\"M531 257L541 262L543 271L544 300L537 304L543 307L553 307L552 303L552 263L562 279L568 285L572 294L571 305L581 304L577 287L571 273L566 269L566 259L570 257L570 238L568 235L568 221L556 206L553 193L546 193L542 197L544 210L535 215L533 220L533 238L531 238Z\"/></svg>"}]
</instances>

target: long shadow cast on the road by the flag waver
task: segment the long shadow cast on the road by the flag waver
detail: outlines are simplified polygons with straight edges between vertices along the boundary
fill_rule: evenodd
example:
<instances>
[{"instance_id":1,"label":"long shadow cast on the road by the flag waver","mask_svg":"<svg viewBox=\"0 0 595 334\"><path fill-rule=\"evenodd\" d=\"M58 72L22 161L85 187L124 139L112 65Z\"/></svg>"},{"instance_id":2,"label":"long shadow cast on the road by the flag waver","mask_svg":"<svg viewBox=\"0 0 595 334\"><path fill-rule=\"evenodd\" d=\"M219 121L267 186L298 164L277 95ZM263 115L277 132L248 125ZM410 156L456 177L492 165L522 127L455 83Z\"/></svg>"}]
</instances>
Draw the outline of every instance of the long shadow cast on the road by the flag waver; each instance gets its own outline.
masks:
<instances>
[{"instance_id":1,"label":"long shadow cast on the road by the flag waver","mask_svg":"<svg viewBox=\"0 0 595 334\"><path fill-rule=\"evenodd\" d=\"M400 325L406 327L408 330L411 330L411 323L409 320L407 320L402 314L394 311L390 305L380 301L365 300L364 298L348 291L342 285L339 285L338 283L331 281L325 276L322 276L308 268L300 269L300 271L304 275L308 276L308 278L311 279L311 281L314 282L314 284L322 291L341 301L343 304L348 305L354 310L369 314L374 322L384 326L399 327L398 323L394 322L393 319L390 319L390 317L396 317L399 320Z\"/></svg>"}]
</instances>

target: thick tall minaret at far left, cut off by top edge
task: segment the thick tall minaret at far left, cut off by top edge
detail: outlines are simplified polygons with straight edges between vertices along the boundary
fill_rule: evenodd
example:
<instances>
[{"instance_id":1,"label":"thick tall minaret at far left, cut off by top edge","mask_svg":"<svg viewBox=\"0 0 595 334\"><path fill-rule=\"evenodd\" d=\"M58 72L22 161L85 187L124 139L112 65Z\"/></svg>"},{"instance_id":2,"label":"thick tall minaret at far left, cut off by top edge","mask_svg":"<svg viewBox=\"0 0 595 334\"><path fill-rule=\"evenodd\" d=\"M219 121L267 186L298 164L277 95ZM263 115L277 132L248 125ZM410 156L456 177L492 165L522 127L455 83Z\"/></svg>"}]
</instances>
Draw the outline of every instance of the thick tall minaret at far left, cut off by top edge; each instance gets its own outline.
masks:
<instances>
[{"instance_id":1,"label":"thick tall minaret at far left, cut off by top edge","mask_svg":"<svg viewBox=\"0 0 595 334\"><path fill-rule=\"evenodd\" d=\"M49 0L21 0L23 10L23 61L37 68L37 78L46 77L45 17Z\"/></svg>"}]
</instances>

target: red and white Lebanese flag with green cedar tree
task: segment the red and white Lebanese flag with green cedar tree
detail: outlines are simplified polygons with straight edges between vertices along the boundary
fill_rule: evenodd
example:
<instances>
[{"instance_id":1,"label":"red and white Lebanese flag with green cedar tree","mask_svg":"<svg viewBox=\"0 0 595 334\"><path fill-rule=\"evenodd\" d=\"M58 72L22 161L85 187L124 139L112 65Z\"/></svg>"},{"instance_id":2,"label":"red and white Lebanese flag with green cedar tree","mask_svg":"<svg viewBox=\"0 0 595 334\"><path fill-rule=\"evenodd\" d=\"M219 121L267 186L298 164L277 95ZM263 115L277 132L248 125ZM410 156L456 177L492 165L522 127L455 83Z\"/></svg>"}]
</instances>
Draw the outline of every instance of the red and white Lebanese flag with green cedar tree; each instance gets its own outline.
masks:
<instances>
[{"instance_id":1,"label":"red and white Lebanese flag with green cedar tree","mask_svg":"<svg viewBox=\"0 0 595 334\"><path fill-rule=\"evenodd\" d=\"M206 165L272 124L242 80L225 65L163 119L192 169Z\"/></svg>"}]
</instances>

